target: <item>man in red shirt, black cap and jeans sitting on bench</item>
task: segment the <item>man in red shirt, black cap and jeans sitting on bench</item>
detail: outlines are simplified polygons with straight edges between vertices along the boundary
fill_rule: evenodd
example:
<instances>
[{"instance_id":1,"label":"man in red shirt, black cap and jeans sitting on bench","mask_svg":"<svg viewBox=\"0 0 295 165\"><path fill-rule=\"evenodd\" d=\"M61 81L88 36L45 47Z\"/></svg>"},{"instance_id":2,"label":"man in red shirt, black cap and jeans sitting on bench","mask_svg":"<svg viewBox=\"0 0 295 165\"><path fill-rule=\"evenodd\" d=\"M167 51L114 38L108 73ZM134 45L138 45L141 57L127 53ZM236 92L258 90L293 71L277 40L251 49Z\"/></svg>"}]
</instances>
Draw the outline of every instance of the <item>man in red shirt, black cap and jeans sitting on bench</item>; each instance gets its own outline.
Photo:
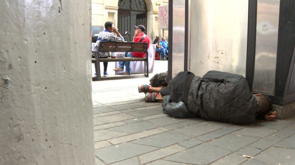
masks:
<instances>
[{"instance_id":1,"label":"man in red shirt, black cap and jeans sitting on bench","mask_svg":"<svg viewBox=\"0 0 295 165\"><path fill-rule=\"evenodd\" d=\"M147 42L148 47L150 46L150 37L148 35L145 35L145 27L143 25L134 26L135 27L135 34L133 37L132 42ZM137 57L137 58L143 58L145 57L145 53L143 52L129 52L127 53L127 57ZM114 71L123 71L124 65L126 67L126 72L121 73L121 75L131 75L131 69L130 69L130 61L121 61L119 62L119 67L113 69Z\"/></svg>"}]
</instances>

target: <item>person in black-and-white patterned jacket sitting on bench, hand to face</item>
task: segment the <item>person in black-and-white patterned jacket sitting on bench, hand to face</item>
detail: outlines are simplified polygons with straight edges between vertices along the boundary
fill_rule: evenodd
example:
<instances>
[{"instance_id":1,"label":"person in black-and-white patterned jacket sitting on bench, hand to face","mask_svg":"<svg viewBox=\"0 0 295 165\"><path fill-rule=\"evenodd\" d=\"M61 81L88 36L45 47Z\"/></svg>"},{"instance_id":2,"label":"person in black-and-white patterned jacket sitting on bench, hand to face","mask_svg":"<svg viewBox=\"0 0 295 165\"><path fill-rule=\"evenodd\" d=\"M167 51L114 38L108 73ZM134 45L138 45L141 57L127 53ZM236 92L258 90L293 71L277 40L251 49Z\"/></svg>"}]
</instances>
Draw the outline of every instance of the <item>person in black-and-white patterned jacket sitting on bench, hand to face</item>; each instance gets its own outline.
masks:
<instances>
[{"instance_id":1,"label":"person in black-and-white patterned jacket sitting on bench, hand to face","mask_svg":"<svg viewBox=\"0 0 295 165\"><path fill-rule=\"evenodd\" d=\"M98 46L99 46L99 41L117 41L117 42L123 42L124 38L122 35L117 31L116 27L111 21L107 21L104 23L104 28L106 30L100 32L98 34L98 38L94 46L92 47L92 51L97 51ZM116 33L116 35L112 34L112 32ZM94 53L92 54L94 55ZM107 52L98 52L99 58L108 58L109 53ZM108 76L109 74L107 73L107 68L108 68L108 62L104 62L104 76Z\"/></svg>"}]
</instances>

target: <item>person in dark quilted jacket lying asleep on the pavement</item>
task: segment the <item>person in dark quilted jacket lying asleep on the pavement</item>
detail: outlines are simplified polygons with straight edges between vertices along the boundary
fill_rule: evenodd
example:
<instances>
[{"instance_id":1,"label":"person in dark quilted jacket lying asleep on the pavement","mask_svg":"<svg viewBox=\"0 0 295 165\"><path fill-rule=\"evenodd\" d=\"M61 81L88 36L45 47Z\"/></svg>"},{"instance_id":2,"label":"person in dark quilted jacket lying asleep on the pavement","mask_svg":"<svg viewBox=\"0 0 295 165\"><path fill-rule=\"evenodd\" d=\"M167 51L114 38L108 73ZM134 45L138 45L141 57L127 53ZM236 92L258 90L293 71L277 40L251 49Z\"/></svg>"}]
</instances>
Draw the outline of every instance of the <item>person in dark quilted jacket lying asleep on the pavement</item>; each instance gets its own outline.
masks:
<instances>
[{"instance_id":1,"label":"person in dark quilted jacket lying asleep on the pavement","mask_svg":"<svg viewBox=\"0 0 295 165\"><path fill-rule=\"evenodd\" d=\"M150 80L151 86L139 85L138 91L146 93L146 102L164 100L164 113L173 117L200 117L232 124L253 124L256 117L276 118L276 112L270 111L270 99L253 95L241 75L209 71L200 78L185 71L178 73L169 85L166 83L165 73L156 74Z\"/></svg>"}]
</instances>

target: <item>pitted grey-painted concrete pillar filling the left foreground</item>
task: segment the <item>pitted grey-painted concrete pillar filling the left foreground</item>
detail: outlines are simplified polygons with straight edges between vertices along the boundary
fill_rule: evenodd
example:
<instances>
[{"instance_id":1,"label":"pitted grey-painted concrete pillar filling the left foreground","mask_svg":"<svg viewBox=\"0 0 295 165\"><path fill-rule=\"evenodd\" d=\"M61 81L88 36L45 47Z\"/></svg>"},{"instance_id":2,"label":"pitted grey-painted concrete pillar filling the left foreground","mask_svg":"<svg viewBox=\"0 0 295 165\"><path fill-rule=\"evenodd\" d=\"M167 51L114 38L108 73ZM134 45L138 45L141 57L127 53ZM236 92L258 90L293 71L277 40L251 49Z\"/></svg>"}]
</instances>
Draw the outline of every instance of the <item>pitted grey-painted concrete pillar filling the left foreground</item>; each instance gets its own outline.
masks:
<instances>
[{"instance_id":1,"label":"pitted grey-painted concrete pillar filling the left foreground","mask_svg":"<svg viewBox=\"0 0 295 165\"><path fill-rule=\"evenodd\" d=\"M91 1L0 1L0 164L94 164Z\"/></svg>"}]
</instances>

